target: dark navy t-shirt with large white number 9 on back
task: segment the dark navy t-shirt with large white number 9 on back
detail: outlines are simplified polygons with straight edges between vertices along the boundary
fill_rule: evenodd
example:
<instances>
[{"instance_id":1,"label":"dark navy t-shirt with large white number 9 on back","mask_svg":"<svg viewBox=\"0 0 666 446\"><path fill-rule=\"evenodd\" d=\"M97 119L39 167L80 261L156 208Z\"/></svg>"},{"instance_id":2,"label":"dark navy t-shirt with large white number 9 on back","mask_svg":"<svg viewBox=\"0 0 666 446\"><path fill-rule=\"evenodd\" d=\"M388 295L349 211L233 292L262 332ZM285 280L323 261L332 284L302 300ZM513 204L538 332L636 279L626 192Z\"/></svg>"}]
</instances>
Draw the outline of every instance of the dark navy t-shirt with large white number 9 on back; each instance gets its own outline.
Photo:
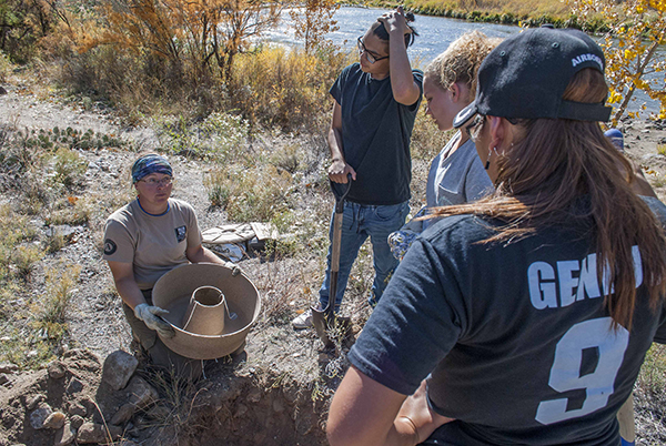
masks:
<instances>
[{"instance_id":1,"label":"dark navy t-shirt with large white number 9 on back","mask_svg":"<svg viewBox=\"0 0 666 446\"><path fill-rule=\"evenodd\" d=\"M616 413L652 342L666 341L664 307L650 312L639 286L632 332L613 331L585 231L477 243L492 224L465 215L425 231L350 361L404 395L430 374L431 405L457 419L433 434L447 445L618 445Z\"/></svg>"}]
</instances>

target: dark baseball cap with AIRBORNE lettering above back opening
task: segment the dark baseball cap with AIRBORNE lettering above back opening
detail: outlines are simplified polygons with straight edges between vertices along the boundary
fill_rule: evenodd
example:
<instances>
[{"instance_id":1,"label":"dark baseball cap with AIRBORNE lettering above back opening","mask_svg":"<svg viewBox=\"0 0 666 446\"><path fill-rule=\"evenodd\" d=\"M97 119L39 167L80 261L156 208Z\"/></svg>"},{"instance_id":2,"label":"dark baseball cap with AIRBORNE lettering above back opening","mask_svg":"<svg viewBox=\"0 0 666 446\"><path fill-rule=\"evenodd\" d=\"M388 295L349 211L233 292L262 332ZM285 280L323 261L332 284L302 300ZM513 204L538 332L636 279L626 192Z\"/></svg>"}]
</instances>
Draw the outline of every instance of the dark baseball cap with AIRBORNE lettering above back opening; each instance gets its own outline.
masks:
<instances>
[{"instance_id":1,"label":"dark baseball cap with AIRBORNE lettering above back opening","mask_svg":"<svg viewBox=\"0 0 666 446\"><path fill-rule=\"evenodd\" d=\"M461 110L453 126L476 113L516 119L608 121L610 107L562 99L572 78L585 68L604 73L606 60L587 34L552 26L528 29L500 43L478 69L474 102Z\"/></svg>"}]
</instances>

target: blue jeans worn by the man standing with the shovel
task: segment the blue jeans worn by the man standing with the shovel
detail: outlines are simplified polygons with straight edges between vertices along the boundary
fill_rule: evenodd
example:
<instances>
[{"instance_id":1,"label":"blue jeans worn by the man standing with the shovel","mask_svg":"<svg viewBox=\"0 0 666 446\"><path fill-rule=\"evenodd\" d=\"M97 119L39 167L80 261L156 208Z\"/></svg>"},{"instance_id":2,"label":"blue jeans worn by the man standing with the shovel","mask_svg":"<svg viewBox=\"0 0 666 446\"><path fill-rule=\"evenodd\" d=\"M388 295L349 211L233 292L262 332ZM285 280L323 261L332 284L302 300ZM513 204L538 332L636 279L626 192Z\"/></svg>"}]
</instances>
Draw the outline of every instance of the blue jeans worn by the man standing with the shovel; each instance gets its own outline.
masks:
<instances>
[{"instance_id":1,"label":"blue jeans worn by the man standing with the shovel","mask_svg":"<svg viewBox=\"0 0 666 446\"><path fill-rule=\"evenodd\" d=\"M376 305L386 288L386 281L398 264L391 254L389 246L389 234L397 231L405 224L410 213L410 203L404 202L391 205L365 205L352 202L344 203L342 220L342 240L340 246L340 270L337 273L337 292L335 296L335 310L342 303L342 296L350 278L352 265L359 255L359 250L370 236L373 251L373 266L375 277L372 284L372 294L369 302ZM329 229L329 240L333 240L333 216ZM329 288L331 286L331 250L326 255L326 276L320 288L320 304L322 308L329 305Z\"/></svg>"}]
</instances>

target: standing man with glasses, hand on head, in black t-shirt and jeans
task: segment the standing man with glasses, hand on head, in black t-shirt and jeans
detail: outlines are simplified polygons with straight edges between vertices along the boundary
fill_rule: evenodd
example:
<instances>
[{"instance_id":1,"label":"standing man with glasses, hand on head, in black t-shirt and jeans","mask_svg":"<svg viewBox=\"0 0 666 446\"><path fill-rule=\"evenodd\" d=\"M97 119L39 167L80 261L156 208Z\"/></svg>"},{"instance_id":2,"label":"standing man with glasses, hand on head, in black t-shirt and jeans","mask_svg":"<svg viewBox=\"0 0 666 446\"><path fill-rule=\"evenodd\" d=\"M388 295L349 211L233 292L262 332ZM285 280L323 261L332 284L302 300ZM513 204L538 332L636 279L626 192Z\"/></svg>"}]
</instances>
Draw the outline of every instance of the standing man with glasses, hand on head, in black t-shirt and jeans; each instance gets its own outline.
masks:
<instances>
[{"instance_id":1,"label":"standing man with glasses, hand on head, in black t-shirt and jeans","mask_svg":"<svg viewBox=\"0 0 666 446\"><path fill-rule=\"evenodd\" d=\"M354 260L369 236L375 270L371 305L377 303L397 266L386 240L410 212L410 139L423 90L423 73L412 70L407 58L407 47L416 36L407 24L412 20L402 7L379 18L359 38L360 61L345 68L331 88L335 103L327 139L329 178L336 197L347 194L340 206L339 237L334 237L334 219L331 221L332 246L319 306L293 320L294 328L313 326L313 312L315 323L325 310L327 314L337 312ZM349 181L353 183L346 191ZM339 245L333 246L335 243ZM340 271L333 274L337 286L335 301L330 303L333 251L339 253L334 260L339 260Z\"/></svg>"}]
</instances>

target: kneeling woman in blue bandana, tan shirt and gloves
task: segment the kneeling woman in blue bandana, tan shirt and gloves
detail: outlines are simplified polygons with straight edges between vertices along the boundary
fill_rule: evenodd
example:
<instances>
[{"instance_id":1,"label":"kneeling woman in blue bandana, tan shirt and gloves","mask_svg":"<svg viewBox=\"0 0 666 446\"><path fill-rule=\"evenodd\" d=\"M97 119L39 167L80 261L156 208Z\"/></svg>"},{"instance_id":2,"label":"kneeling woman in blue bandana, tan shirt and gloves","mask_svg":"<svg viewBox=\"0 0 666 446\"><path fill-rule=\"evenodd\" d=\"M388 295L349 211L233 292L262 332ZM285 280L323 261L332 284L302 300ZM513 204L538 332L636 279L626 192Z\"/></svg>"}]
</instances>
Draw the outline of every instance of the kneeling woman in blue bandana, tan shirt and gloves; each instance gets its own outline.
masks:
<instances>
[{"instance_id":1,"label":"kneeling woman in blue bandana, tan shirt and gloves","mask_svg":"<svg viewBox=\"0 0 666 446\"><path fill-rule=\"evenodd\" d=\"M171 352L160 339L174 335L173 327L160 316L165 311L152 304L155 282L174 267L186 263L228 263L201 244L201 232L192 206L171 197L173 170L157 154L139 158L132 165L137 200L115 211L104 229L104 256L134 338L152 363L178 376L198 378L201 361Z\"/></svg>"}]
</instances>

